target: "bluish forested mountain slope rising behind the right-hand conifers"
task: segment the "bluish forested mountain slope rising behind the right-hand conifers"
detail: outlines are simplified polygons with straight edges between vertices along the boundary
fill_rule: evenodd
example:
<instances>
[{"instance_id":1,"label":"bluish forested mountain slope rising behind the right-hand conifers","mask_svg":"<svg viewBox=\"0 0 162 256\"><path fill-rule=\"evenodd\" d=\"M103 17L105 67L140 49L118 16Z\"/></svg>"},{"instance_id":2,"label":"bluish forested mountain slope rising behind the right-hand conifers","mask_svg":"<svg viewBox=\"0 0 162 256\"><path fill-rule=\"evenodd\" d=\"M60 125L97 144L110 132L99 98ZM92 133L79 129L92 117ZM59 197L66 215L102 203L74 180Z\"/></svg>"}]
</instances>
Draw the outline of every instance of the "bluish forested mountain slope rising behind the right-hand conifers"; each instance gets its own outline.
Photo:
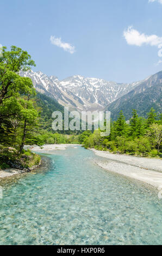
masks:
<instances>
[{"instance_id":1,"label":"bluish forested mountain slope rising behind the right-hand conifers","mask_svg":"<svg viewBox=\"0 0 162 256\"><path fill-rule=\"evenodd\" d=\"M136 109L142 117L147 117L147 113L153 107L160 114L162 112L162 71L142 81L126 95L110 103L106 110L111 112L111 117L115 120L122 110L126 119L130 119L132 109Z\"/></svg>"}]
</instances>

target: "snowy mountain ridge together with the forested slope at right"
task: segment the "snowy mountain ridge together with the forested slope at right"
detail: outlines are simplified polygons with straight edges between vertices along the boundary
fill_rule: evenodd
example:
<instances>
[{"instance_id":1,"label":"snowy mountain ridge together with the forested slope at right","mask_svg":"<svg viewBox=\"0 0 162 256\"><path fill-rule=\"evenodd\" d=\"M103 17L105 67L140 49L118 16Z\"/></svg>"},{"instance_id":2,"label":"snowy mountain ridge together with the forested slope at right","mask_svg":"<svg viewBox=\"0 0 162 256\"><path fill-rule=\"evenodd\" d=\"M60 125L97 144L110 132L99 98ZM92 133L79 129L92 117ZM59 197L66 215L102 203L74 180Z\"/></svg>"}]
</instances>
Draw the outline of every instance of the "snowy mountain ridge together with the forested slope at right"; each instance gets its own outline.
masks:
<instances>
[{"instance_id":1,"label":"snowy mountain ridge together with the forested slope at right","mask_svg":"<svg viewBox=\"0 0 162 256\"><path fill-rule=\"evenodd\" d=\"M134 83L116 83L80 75L58 80L55 76L32 70L21 71L20 75L30 77L39 93L51 97L62 106L68 106L70 110L106 109L111 111L113 119L121 109L127 119L132 108L140 109L142 115L146 115L147 109L152 106L161 112L162 71Z\"/></svg>"}]
</instances>

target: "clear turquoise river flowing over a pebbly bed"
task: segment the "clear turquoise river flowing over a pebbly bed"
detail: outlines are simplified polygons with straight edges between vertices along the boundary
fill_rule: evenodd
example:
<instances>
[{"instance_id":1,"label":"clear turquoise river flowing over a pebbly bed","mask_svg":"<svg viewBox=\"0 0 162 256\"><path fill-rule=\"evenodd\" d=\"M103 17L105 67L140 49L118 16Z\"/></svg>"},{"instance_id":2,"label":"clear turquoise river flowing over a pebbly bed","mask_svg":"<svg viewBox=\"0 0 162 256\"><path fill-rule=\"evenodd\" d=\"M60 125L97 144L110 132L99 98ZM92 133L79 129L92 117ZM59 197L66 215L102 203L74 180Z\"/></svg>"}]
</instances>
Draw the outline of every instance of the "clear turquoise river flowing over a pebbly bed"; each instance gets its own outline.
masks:
<instances>
[{"instance_id":1,"label":"clear turquoise river flowing over a pebbly bed","mask_svg":"<svg viewBox=\"0 0 162 256\"><path fill-rule=\"evenodd\" d=\"M99 168L80 147L3 185L1 245L160 245L157 191ZM2 186L2 185L1 185Z\"/></svg>"}]
</instances>

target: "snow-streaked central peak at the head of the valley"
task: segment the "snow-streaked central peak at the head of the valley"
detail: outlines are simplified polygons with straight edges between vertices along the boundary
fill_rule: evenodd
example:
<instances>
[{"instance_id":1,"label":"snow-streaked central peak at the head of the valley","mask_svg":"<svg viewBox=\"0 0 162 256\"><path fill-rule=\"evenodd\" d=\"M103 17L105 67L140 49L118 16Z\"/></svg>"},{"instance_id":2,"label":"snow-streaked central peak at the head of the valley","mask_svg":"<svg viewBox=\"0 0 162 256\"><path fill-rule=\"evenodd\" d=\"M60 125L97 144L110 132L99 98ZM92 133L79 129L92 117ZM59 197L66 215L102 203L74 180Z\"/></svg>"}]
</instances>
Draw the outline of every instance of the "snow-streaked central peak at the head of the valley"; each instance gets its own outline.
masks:
<instances>
[{"instance_id":1,"label":"snow-streaked central peak at the head of the valley","mask_svg":"<svg viewBox=\"0 0 162 256\"><path fill-rule=\"evenodd\" d=\"M108 102L111 103L119 99L137 84L119 84L98 78L84 78L83 76L68 77L60 82L67 93L70 92L78 96L85 106L97 105L98 108L104 108Z\"/></svg>"}]
</instances>

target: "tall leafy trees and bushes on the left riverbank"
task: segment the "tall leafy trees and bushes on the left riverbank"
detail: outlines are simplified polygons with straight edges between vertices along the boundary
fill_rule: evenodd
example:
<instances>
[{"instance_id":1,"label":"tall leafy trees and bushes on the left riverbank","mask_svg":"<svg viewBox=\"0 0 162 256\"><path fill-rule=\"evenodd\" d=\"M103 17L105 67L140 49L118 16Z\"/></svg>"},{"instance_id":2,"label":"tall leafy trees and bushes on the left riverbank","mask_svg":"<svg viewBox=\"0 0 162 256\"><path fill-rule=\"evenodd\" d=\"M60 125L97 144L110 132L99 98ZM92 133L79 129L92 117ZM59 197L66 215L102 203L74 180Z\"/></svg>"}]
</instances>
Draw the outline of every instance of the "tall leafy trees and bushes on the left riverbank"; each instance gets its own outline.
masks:
<instances>
[{"instance_id":1,"label":"tall leafy trees and bushes on the left riverbank","mask_svg":"<svg viewBox=\"0 0 162 256\"><path fill-rule=\"evenodd\" d=\"M32 97L36 94L32 81L21 77L20 70L35 66L26 51L11 46L3 47L0 54L0 168L20 169L40 162L39 156L26 153L26 141L32 142L38 126L38 110ZM28 155L26 155L28 154Z\"/></svg>"}]
</instances>

